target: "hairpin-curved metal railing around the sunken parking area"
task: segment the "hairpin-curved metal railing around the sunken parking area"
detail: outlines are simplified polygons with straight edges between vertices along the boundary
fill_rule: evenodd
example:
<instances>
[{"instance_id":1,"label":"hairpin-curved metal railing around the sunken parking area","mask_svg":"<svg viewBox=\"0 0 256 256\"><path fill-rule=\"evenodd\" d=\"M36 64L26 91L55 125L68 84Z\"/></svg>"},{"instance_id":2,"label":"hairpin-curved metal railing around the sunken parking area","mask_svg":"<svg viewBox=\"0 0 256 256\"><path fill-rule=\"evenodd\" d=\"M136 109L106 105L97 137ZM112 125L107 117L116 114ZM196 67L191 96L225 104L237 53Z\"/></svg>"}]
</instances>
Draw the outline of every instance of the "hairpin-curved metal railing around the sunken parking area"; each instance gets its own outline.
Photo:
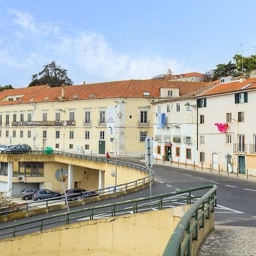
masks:
<instances>
[{"instance_id":1,"label":"hairpin-curved metal railing around the sunken parking area","mask_svg":"<svg viewBox=\"0 0 256 256\"><path fill-rule=\"evenodd\" d=\"M148 174L147 177L144 177L144 178L141 178L141 179L138 179L135 181L130 181L128 183L119 184L117 186L101 188L101 189L97 189L94 191L87 191L86 193L95 192L97 196L107 195L110 193L115 194L116 192L127 191L131 187L137 188L139 185L144 185L145 183L150 182L149 169L147 167L141 166L139 164L124 162L124 161L119 161L119 160L117 160L117 162L115 162L115 160L108 160L108 159L100 158L97 156L73 154L73 153L68 153L68 152L64 152L64 151L53 151L52 153L58 154L58 155L69 156L69 157L73 157L73 158L92 160L92 161L96 161L96 162L104 162L104 163L114 164L114 165L117 163L117 165L119 165L119 166L135 168L135 169L141 170L143 172L146 172L146 174ZM31 154L46 154L46 153L45 153L45 151L36 150L36 151L31 151ZM154 180L154 171L152 171L152 170L151 170L151 179ZM73 194L72 196L74 196L74 195L75 194ZM81 197L81 194L77 194L77 200L82 200L82 199L86 199L89 197L91 197L91 196L84 195L83 197ZM34 201L34 202L26 203L26 204L24 203L24 205L17 205L16 207L11 207L11 208L2 207L2 208L0 208L0 216L1 215L7 216L7 214L14 213L14 212L27 212L30 209L35 209L35 207L48 208L50 205L56 204L56 200L58 200L59 203L60 202L65 203L64 196L60 196L60 197L53 197L51 199Z\"/></svg>"}]
</instances>

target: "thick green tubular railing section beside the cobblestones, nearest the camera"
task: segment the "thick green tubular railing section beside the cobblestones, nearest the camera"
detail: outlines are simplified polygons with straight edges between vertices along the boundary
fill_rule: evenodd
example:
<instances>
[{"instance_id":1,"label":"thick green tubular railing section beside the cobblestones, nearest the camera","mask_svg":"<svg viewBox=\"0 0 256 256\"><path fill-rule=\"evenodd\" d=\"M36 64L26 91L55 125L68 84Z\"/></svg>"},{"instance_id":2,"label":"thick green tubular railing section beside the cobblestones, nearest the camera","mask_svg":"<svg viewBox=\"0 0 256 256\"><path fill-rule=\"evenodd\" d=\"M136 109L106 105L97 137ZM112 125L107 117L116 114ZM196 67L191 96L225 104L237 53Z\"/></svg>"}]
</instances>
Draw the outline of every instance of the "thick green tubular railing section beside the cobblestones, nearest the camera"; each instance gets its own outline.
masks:
<instances>
[{"instance_id":1,"label":"thick green tubular railing section beside the cobblestones, nearest the camera","mask_svg":"<svg viewBox=\"0 0 256 256\"><path fill-rule=\"evenodd\" d=\"M170 240L167 243L163 256L191 255L193 241L197 241L199 229L204 228L205 218L211 217L217 205L217 186L212 185L210 191L192 204L191 208L181 218ZM191 241L192 240L192 241Z\"/></svg>"}]
</instances>

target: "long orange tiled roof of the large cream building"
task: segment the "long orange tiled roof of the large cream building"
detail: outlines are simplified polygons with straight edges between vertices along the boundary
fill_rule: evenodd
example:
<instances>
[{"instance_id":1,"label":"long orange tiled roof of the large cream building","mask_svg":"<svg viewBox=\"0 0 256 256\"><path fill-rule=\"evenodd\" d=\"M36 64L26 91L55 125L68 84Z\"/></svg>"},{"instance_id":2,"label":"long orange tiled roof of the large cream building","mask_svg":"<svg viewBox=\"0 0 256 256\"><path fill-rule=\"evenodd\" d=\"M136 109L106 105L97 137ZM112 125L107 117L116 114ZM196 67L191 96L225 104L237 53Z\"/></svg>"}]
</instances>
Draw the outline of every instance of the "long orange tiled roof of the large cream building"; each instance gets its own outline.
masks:
<instances>
[{"instance_id":1,"label":"long orange tiled roof of the large cream building","mask_svg":"<svg viewBox=\"0 0 256 256\"><path fill-rule=\"evenodd\" d=\"M3 90L0 92L0 105L103 98L158 98L160 96L160 88L179 88L180 95L183 95L205 84L207 83L185 81L170 82L150 79L100 82L52 88L48 85L39 85ZM64 90L64 98L61 99L62 90ZM150 96L144 96L143 92L149 92ZM15 97L18 95L21 97L15 100ZM14 100L7 100L6 97L11 96L15 96Z\"/></svg>"}]
</instances>

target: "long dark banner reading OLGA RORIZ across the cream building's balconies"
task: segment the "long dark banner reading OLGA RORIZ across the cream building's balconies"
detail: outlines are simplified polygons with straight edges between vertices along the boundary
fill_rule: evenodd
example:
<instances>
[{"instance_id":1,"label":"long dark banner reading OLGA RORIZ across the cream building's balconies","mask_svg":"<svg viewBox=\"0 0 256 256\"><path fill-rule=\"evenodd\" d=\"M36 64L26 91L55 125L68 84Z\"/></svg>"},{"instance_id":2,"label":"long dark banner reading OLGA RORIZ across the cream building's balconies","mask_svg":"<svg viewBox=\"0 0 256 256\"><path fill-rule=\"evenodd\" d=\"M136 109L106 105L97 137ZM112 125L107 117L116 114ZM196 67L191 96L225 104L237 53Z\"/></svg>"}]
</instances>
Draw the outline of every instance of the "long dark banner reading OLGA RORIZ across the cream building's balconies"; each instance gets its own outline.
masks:
<instances>
[{"instance_id":1,"label":"long dark banner reading OLGA RORIZ across the cream building's balconies","mask_svg":"<svg viewBox=\"0 0 256 256\"><path fill-rule=\"evenodd\" d=\"M14 121L12 126L75 126L75 121Z\"/></svg>"}]
</instances>

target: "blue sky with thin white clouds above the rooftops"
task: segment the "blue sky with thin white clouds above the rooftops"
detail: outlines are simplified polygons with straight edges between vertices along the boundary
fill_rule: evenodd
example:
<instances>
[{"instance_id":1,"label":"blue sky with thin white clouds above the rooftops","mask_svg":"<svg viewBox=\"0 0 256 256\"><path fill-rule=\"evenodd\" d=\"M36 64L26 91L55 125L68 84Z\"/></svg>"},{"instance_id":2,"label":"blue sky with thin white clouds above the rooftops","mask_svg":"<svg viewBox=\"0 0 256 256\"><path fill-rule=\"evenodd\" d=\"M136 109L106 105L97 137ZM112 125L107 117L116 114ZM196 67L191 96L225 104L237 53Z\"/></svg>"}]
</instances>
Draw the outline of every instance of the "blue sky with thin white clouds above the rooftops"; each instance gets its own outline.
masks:
<instances>
[{"instance_id":1,"label":"blue sky with thin white clouds above the rooftops","mask_svg":"<svg viewBox=\"0 0 256 256\"><path fill-rule=\"evenodd\" d=\"M256 1L0 0L0 85L55 60L75 84L204 73L255 54ZM241 46L243 44L243 47Z\"/></svg>"}]
</instances>

